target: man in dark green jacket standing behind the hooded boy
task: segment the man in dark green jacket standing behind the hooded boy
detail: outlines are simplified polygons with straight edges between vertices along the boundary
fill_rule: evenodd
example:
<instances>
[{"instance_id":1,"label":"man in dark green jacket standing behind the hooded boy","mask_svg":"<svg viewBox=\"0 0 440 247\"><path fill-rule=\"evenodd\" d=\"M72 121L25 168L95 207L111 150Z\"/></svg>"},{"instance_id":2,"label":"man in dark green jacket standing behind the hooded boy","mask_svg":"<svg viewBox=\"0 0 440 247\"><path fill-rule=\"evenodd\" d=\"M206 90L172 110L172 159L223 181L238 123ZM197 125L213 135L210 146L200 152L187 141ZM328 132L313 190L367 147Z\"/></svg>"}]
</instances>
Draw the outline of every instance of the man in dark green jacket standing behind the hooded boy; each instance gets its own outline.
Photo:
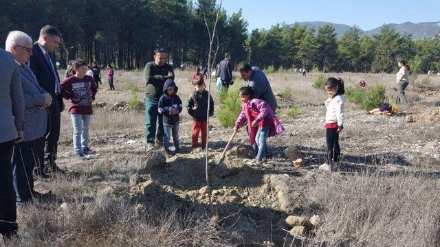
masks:
<instances>
[{"instance_id":1,"label":"man in dark green jacket standing behind the hooded boy","mask_svg":"<svg viewBox=\"0 0 440 247\"><path fill-rule=\"evenodd\" d=\"M157 104L159 97L164 94L162 91L164 82L167 79L174 80L174 69L166 63L166 51L162 48L154 50L154 61L148 62L144 68L145 91L145 135L148 150L154 148L155 138L162 143L164 138L164 124L162 115L159 114ZM158 126L156 125L159 121ZM156 126L157 134L156 134Z\"/></svg>"}]
</instances>

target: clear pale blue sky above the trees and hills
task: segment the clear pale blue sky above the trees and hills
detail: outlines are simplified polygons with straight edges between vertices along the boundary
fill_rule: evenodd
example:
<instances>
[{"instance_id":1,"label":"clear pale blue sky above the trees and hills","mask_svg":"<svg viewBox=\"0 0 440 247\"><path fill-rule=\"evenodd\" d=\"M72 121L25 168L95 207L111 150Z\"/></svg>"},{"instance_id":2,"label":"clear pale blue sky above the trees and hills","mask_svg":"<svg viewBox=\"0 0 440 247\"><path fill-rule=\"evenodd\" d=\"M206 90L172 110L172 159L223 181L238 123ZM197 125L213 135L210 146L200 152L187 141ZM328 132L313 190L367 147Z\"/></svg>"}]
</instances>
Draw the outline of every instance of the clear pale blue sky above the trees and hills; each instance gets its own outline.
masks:
<instances>
[{"instance_id":1,"label":"clear pale blue sky above the trees and hills","mask_svg":"<svg viewBox=\"0 0 440 247\"><path fill-rule=\"evenodd\" d=\"M223 0L223 8L228 15L241 8L249 31L296 21L357 25L365 31L385 23L440 23L440 0Z\"/></svg>"}]
</instances>

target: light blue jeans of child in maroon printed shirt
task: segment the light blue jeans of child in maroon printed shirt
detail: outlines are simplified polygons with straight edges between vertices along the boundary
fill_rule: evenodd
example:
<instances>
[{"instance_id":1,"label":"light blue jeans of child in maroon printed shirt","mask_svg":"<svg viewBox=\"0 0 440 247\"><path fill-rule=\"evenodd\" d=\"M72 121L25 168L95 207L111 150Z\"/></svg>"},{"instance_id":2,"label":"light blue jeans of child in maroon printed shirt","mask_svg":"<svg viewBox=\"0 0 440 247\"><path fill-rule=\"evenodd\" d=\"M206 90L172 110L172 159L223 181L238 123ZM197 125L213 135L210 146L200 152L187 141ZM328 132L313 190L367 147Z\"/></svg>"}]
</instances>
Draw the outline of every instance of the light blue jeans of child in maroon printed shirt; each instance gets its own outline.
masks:
<instances>
[{"instance_id":1,"label":"light blue jeans of child in maroon printed shirt","mask_svg":"<svg viewBox=\"0 0 440 247\"><path fill-rule=\"evenodd\" d=\"M90 115L71 114L74 126L74 148L76 153L82 153L89 148Z\"/></svg>"}]
</instances>

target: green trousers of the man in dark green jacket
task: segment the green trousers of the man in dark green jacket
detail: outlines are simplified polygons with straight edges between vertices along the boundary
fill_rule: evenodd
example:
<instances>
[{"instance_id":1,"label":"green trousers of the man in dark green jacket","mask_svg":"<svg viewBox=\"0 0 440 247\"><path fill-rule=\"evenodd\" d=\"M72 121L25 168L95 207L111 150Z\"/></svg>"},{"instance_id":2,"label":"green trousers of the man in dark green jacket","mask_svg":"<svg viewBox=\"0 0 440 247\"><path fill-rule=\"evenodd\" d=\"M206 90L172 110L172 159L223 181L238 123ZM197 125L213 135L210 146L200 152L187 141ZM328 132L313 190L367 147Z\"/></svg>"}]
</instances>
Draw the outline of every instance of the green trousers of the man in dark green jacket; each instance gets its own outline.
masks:
<instances>
[{"instance_id":1,"label":"green trousers of the man in dark green jacket","mask_svg":"<svg viewBox=\"0 0 440 247\"><path fill-rule=\"evenodd\" d=\"M158 112L158 100L146 98L145 99L145 136L146 143L154 144L155 138L157 141L164 139L164 122L162 114ZM158 122L159 128L157 128L156 134L156 122Z\"/></svg>"}]
</instances>

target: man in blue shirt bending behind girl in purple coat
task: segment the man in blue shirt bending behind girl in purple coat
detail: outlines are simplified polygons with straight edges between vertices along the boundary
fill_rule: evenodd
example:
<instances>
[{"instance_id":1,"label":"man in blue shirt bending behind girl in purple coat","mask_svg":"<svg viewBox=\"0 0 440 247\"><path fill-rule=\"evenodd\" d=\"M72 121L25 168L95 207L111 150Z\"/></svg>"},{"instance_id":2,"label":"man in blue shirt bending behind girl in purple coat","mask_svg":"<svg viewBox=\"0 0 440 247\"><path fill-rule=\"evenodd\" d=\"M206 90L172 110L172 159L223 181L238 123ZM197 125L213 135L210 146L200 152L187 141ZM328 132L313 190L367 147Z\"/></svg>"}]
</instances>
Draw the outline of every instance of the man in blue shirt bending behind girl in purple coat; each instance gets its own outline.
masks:
<instances>
[{"instance_id":1,"label":"man in blue shirt bending behind girl in purple coat","mask_svg":"<svg viewBox=\"0 0 440 247\"><path fill-rule=\"evenodd\" d=\"M276 99L269 80L267 80L263 71L259 67L250 67L250 64L247 62L241 62L239 64L239 73L241 79L248 82L248 86L252 88L254 98L263 99L272 107L275 113L277 107Z\"/></svg>"}]
</instances>

